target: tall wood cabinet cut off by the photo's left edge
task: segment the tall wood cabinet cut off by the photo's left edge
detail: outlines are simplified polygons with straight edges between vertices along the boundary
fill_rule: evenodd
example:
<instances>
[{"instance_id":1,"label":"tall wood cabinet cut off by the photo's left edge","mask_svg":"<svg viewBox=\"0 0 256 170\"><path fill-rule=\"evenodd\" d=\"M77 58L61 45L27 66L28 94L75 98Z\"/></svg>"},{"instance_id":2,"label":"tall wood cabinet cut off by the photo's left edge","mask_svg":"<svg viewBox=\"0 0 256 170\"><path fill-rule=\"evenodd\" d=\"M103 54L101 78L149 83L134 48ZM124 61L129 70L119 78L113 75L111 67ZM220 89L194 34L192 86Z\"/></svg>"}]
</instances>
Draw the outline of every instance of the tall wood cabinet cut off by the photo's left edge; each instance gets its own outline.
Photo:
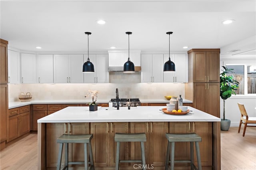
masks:
<instances>
[{"instance_id":1,"label":"tall wood cabinet cut off by the photo's left edge","mask_svg":"<svg viewBox=\"0 0 256 170\"><path fill-rule=\"evenodd\" d=\"M8 41L0 39L0 150L7 140L8 113Z\"/></svg>"}]
</instances>

